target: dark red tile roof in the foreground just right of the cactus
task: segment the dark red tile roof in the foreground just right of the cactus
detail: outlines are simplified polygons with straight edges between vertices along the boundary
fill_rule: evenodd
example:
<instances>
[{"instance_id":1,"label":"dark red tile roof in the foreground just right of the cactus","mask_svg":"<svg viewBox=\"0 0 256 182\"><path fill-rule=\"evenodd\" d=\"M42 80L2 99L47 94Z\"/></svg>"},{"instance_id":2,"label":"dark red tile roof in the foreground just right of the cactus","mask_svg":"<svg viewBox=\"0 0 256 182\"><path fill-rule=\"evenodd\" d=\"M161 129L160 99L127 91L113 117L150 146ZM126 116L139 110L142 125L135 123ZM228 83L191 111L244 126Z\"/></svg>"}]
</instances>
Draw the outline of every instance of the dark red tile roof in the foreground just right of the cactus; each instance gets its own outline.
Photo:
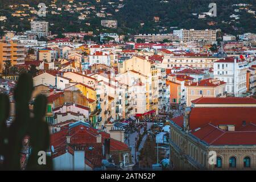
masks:
<instances>
[{"instance_id":1,"label":"dark red tile roof in the foreground just right of the cactus","mask_svg":"<svg viewBox=\"0 0 256 182\"><path fill-rule=\"evenodd\" d=\"M68 129L69 128L69 129ZM96 137L101 134L101 143L97 143ZM66 136L71 137L71 144L67 144ZM61 130L51 135L51 146L55 148L53 158L65 154L66 148L70 146L85 146L85 156L91 164L94 166L100 165L102 160L102 144L105 138L110 138L110 134L99 131L92 127L86 127L85 125L77 125L69 127L68 125L61 127ZM97 150L89 150L88 147L94 147ZM119 142L113 138L110 138L110 152L128 151L127 144ZM73 149L69 148L69 153L72 154Z\"/></svg>"}]
</instances>

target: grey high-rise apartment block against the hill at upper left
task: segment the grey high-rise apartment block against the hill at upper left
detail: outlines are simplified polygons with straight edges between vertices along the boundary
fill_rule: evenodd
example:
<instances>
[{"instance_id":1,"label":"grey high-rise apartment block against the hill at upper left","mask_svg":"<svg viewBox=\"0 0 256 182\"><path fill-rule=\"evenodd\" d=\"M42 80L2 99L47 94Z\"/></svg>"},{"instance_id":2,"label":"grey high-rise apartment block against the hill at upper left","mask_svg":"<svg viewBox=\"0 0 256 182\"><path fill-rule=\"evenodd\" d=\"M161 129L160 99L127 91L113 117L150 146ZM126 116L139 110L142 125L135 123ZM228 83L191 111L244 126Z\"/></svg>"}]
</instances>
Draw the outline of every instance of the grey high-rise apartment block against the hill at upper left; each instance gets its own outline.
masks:
<instances>
[{"instance_id":1,"label":"grey high-rise apartment block against the hill at upper left","mask_svg":"<svg viewBox=\"0 0 256 182\"><path fill-rule=\"evenodd\" d=\"M31 31L30 34L41 36L48 36L49 35L49 23L45 21L33 21L30 23Z\"/></svg>"}]
</instances>

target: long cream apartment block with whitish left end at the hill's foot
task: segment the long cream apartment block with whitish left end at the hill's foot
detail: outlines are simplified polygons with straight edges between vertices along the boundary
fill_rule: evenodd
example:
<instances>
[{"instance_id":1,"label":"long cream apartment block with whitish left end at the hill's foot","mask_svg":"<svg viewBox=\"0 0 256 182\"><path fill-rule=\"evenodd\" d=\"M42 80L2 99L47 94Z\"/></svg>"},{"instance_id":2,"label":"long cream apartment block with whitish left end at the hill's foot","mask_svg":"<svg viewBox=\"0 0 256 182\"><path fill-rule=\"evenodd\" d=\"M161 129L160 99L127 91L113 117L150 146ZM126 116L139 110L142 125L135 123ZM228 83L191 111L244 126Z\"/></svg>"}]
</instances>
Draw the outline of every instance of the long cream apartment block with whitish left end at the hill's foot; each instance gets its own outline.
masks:
<instances>
[{"instance_id":1,"label":"long cream apartment block with whitish left end at the hill's foot","mask_svg":"<svg viewBox=\"0 0 256 182\"><path fill-rule=\"evenodd\" d=\"M208 41L208 42L215 42L216 41L216 30L174 30L174 35L178 36L180 40L183 42L189 41Z\"/></svg>"}]
</instances>

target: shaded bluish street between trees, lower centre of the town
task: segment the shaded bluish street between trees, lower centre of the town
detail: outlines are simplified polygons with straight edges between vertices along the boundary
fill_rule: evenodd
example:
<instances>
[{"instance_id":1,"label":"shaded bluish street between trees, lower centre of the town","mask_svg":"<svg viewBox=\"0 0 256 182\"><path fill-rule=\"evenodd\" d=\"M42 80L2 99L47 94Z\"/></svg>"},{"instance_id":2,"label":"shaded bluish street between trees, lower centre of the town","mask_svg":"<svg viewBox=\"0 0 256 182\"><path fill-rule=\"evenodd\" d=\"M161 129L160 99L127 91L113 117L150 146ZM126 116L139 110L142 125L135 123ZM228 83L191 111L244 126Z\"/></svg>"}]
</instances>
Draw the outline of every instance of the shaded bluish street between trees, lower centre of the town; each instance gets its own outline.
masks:
<instances>
[{"instance_id":1,"label":"shaded bluish street between trees, lower centre of the town","mask_svg":"<svg viewBox=\"0 0 256 182\"><path fill-rule=\"evenodd\" d=\"M150 127L152 126L152 122L147 122L147 130L148 129L150 129ZM143 133L143 130L144 130L144 127L142 127L142 129L141 129L141 134ZM133 163L135 164L135 158L134 158L134 156L135 156L135 138L137 138L138 139L138 132L137 131L135 131L134 133L131 133L130 135L129 135L129 139L127 139L127 140L125 140L125 143L130 147L130 149L131 149L131 155L133 156L133 158L132 158L132 160L133 160ZM141 144L140 144L140 146L139 146L139 150L141 150L141 148L143 147L143 144L145 143L145 141L146 141L146 135L142 138L142 141L141 141ZM139 152L138 151L136 151L136 158L137 158L137 162L138 162L138 154L139 154Z\"/></svg>"}]
</instances>

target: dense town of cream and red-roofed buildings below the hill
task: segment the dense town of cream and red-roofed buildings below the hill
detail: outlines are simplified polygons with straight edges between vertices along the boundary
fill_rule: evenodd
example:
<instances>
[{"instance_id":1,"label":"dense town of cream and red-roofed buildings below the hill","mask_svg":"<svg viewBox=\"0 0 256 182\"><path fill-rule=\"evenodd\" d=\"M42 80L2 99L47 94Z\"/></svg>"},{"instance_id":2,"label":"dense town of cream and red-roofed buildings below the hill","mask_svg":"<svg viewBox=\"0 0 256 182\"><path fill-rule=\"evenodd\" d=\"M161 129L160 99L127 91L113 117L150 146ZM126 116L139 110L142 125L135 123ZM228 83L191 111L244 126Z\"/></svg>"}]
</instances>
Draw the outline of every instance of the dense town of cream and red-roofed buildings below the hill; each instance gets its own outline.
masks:
<instances>
[{"instance_id":1,"label":"dense town of cream and red-roofed buildings below the hill","mask_svg":"<svg viewBox=\"0 0 256 182\"><path fill-rule=\"evenodd\" d=\"M101 24L117 27L115 20ZM55 170L256 169L256 34L218 41L220 29L182 28L133 40L102 32L96 42L85 39L93 31L56 38L46 21L30 26L2 36L0 92L10 98L11 125L16 82L31 73L30 109L38 94L48 101ZM26 142L21 168L31 152ZM209 151L217 163L208 163Z\"/></svg>"}]
</instances>

